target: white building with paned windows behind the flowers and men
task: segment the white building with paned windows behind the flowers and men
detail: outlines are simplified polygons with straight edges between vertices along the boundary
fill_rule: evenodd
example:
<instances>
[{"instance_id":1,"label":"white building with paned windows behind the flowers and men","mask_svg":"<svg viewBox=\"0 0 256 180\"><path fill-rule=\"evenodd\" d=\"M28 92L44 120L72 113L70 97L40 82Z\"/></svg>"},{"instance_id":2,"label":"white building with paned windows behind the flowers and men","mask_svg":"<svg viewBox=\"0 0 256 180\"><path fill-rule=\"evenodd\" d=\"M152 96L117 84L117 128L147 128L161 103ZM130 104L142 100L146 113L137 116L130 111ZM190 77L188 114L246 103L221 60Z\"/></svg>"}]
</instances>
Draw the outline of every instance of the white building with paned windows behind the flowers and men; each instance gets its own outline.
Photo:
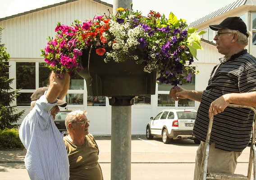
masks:
<instances>
[{"instance_id":1,"label":"white building with paned windows behind the flowers and men","mask_svg":"<svg viewBox=\"0 0 256 180\"><path fill-rule=\"evenodd\" d=\"M240 16L250 31L249 52L256 56L256 0L238 0L223 9L199 19L190 26L197 27L198 31L206 30L210 24L220 23L229 16ZM19 110L25 109L24 116L30 110L30 96L39 87L46 86L50 70L44 66L41 50L47 44L48 36L55 36L57 22L69 25L75 19L92 19L95 14L108 14L112 12L113 6L100 0L67 0L63 3L53 4L40 9L31 10L14 16L0 18L2 31L2 43L5 44L10 54L9 77L14 77L12 88L20 90L21 95L16 99L14 105ZM215 31L207 30L202 36L201 45L204 50L197 52L197 58L193 65L200 71L192 77L192 82L184 84L186 89L204 90L210 77L211 69L218 58L222 57L212 42ZM141 135L146 132L146 123L151 116L165 108L197 109L198 102L181 100L174 102L169 98L170 85L156 84L154 95L139 96L132 106L132 134ZM93 135L111 134L111 106L106 97L87 96L86 82L75 76L70 81L66 101L68 109L87 110L87 117L91 120L90 132ZM186 107L185 107L186 106ZM21 123L20 120L18 123Z\"/></svg>"}]
</instances>

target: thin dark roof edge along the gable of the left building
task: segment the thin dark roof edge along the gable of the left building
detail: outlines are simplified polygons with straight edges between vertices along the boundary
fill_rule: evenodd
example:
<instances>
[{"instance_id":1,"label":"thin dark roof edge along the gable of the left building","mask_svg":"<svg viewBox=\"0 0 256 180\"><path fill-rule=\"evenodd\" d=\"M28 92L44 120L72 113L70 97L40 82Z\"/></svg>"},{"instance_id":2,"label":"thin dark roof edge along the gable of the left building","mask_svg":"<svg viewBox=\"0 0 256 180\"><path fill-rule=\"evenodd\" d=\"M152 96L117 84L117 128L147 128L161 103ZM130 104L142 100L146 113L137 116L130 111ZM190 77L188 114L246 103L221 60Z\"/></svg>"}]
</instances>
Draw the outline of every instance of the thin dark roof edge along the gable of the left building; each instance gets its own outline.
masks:
<instances>
[{"instance_id":1,"label":"thin dark roof edge along the gable of the left building","mask_svg":"<svg viewBox=\"0 0 256 180\"><path fill-rule=\"evenodd\" d=\"M12 15L12 16L5 17L5 18L0 18L0 21L4 21L4 20L7 20L7 19L11 19L11 18L16 18L18 16L23 16L25 14L34 13L34 12L41 11L41 10L44 10L44 9L53 8L55 6L59 6L59 5L62 5L62 4L68 4L68 3L71 3L71 2L74 2L74 1L78 1L78 0L66 0L64 2L60 2L60 3L48 5L48 6L45 6L45 7L33 9L33 10L30 10L30 11L26 11L24 13L19 13L19 14L15 14L15 15ZM95 1L95 2L100 3L100 4L104 4L106 6L109 6L109 7L113 8L112 4L108 4L108 3L102 2L101 0L92 0L92 1Z\"/></svg>"}]
</instances>

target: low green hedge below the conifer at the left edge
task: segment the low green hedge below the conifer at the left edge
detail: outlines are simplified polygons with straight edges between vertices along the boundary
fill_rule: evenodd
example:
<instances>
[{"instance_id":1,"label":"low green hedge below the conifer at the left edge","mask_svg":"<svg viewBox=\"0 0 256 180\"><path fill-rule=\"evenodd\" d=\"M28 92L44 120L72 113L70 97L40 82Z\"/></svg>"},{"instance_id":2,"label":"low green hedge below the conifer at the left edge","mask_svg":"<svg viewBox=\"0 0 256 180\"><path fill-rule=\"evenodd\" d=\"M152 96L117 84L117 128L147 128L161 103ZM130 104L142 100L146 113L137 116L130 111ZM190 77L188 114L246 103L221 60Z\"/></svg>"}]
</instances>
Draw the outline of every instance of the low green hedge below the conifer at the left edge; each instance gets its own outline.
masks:
<instances>
[{"instance_id":1,"label":"low green hedge below the conifer at the left edge","mask_svg":"<svg viewBox=\"0 0 256 180\"><path fill-rule=\"evenodd\" d=\"M0 130L0 150L23 148L16 128Z\"/></svg>"}]
</instances>

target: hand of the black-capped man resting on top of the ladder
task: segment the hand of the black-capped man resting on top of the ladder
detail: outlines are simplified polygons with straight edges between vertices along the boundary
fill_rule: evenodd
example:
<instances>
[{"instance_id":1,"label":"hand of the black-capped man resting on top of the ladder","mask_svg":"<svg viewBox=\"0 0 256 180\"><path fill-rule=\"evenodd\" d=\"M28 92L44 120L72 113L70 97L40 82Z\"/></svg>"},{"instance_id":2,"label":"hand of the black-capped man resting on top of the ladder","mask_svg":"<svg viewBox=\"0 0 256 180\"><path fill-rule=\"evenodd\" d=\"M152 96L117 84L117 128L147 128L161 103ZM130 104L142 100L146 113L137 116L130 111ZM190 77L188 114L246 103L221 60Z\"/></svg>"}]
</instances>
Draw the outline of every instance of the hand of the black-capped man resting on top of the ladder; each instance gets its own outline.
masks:
<instances>
[{"instance_id":1,"label":"hand of the black-capped man resting on top of the ladder","mask_svg":"<svg viewBox=\"0 0 256 180\"><path fill-rule=\"evenodd\" d=\"M224 109L229 105L228 96L229 94L224 94L210 104L209 119L211 118L212 114L216 115L223 112Z\"/></svg>"}]
</instances>

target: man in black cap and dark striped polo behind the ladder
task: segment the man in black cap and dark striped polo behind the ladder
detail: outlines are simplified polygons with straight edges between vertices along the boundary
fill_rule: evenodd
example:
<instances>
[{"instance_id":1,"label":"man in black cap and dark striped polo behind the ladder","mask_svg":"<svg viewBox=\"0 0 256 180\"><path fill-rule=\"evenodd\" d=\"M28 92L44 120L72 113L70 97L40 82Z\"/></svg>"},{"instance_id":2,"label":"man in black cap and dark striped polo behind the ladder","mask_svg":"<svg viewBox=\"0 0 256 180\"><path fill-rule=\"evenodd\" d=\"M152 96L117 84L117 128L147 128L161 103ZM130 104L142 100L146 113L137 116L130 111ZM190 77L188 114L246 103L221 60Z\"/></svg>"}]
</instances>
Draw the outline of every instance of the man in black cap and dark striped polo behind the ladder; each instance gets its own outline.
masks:
<instances>
[{"instance_id":1,"label":"man in black cap and dark striped polo behind the ladder","mask_svg":"<svg viewBox=\"0 0 256 180\"><path fill-rule=\"evenodd\" d=\"M200 103L193 135L201 140L197 149L194 180L198 180L209 118L214 114L208 160L209 172L233 174L237 158L247 147L254 113L245 108L227 107L230 103L256 107L256 58L247 53L246 24L239 17L229 17L218 25L214 40L224 57L213 68L206 90L170 90L170 97L188 98Z\"/></svg>"}]
</instances>

